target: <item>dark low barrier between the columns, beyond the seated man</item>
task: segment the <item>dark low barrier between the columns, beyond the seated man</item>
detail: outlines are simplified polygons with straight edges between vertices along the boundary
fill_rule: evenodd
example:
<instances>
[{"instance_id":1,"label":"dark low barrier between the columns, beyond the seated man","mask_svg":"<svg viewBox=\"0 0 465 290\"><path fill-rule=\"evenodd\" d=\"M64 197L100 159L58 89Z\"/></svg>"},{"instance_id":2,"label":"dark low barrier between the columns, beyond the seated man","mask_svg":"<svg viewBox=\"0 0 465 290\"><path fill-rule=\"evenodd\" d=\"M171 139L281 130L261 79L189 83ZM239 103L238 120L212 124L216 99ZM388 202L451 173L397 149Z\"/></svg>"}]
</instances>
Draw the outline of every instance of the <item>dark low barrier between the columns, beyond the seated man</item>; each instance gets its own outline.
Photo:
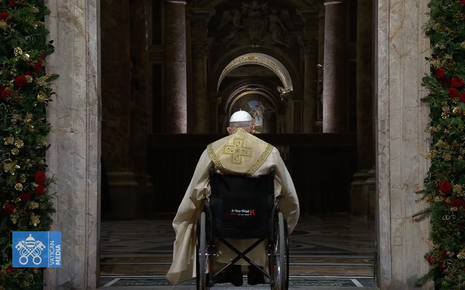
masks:
<instances>
[{"instance_id":1,"label":"dark low barrier between the columns, beyond the seated man","mask_svg":"<svg viewBox=\"0 0 465 290\"><path fill-rule=\"evenodd\" d=\"M289 147L287 168L302 213L349 212L349 191L356 169L355 134L263 134L276 147ZM152 176L157 213L173 213L189 185L206 145L224 135L149 136L147 173Z\"/></svg>"}]
</instances>

